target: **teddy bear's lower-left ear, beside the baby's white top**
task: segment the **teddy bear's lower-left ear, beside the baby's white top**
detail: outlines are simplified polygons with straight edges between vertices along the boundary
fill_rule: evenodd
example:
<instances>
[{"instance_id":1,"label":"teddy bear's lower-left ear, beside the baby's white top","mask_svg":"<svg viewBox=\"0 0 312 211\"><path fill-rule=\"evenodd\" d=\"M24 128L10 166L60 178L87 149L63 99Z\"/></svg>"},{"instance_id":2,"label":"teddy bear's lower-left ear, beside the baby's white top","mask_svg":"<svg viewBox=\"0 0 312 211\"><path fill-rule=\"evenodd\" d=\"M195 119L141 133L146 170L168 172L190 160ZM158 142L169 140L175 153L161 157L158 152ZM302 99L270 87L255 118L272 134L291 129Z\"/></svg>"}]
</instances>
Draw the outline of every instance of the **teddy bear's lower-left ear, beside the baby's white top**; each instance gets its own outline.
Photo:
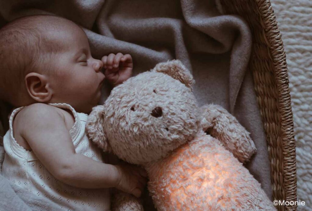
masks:
<instances>
[{"instance_id":1,"label":"teddy bear's lower-left ear, beside the baby's white top","mask_svg":"<svg viewBox=\"0 0 312 211\"><path fill-rule=\"evenodd\" d=\"M87 136L96 145L104 151L111 151L110 144L108 143L104 128L104 106L95 106L88 117L86 124Z\"/></svg>"}]
</instances>

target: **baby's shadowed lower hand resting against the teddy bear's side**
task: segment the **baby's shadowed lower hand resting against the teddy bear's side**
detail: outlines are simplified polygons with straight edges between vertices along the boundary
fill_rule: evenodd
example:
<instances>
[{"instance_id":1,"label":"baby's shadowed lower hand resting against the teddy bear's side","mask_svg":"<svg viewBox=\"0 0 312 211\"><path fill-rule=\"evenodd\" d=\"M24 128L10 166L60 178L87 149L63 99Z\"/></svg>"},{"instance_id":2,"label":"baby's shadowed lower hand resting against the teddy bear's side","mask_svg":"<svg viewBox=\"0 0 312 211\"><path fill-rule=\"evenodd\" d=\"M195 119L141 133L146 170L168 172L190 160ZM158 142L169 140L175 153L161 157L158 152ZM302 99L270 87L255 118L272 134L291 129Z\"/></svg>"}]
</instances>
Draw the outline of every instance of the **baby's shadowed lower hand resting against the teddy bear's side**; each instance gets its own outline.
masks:
<instances>
[{"instance_id":1,"label":"baby's shadowed lower hand resting against the teddy bear's side","mask_svg":"<svg viewBox=\"0 0 312 211\"><path fill-rule=\"evenodd\" d=\"M145 170L129 164L115 166L119 171L119 182L116 188L140 197L146 184Z\"/></svg>"}]
</instances>

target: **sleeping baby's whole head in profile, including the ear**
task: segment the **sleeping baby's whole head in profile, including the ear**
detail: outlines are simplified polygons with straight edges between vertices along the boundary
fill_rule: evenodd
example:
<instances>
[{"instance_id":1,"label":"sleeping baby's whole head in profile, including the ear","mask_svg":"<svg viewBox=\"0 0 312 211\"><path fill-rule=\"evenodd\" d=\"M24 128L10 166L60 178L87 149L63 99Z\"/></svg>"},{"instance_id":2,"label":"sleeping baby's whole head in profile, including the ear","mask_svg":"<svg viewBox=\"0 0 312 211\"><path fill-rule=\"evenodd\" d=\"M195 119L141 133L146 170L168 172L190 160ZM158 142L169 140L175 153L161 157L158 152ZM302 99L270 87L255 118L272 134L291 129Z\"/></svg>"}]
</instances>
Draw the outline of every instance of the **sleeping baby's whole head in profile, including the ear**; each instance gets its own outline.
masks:
<instances>
[{"instance_id":1,"label":"sleeping baby's whole head in profile, including the ear","mask_svg":"<svg viewBox=\"0 0 312 211\"><path fill-rule=\"evenodd\" d=\"M88 113L105 76L85 32L51 15L18 18L0 29L0 99L15 107L68 103Z\"/></svg>"}]
</instances>

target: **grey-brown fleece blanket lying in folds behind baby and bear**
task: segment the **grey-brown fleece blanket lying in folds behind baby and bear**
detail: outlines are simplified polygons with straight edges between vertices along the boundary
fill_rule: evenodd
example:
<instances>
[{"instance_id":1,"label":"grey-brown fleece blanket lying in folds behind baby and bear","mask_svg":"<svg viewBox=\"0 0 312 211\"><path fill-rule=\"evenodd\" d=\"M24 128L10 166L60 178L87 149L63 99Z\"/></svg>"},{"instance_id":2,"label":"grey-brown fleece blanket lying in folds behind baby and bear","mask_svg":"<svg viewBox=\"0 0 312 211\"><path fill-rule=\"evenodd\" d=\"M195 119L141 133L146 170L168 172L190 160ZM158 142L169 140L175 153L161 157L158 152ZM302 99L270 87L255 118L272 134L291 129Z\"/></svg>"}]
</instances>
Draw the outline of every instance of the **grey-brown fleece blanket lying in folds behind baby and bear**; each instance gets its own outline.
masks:
<instances>
[{"instance_id":1,"label":"grey-brown fleece blanket lying in folds behind baby and bear","mask_svg":"<svg viewBox=\"0 0 312 211\"><path fill-rule=\"evenodd\" d=\"M158 62L181 60L193 73L198 103L215 103L251 132L257 153L246 164L271 197L270 165L251 70L251 33L237 16L221 15L214 0L11 0L0 2L0 24L55 14L85 30L95 58L129 53L134 75ZM109 94L103 87L101 101Z\"/></svg>"}]
</instances>

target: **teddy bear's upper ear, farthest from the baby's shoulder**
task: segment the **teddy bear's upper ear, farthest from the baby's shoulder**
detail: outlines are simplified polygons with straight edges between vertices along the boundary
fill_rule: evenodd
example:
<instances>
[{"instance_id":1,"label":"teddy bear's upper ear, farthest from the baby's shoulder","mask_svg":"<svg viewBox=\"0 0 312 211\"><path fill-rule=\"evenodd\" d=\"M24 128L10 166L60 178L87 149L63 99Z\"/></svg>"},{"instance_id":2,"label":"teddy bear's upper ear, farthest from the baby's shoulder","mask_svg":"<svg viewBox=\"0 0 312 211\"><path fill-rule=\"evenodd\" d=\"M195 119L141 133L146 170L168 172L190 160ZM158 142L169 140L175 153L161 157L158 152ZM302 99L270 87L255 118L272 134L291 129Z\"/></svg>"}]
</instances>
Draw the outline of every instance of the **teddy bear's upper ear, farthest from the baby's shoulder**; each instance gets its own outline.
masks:
<instances>
[{"instance_id":1,"label":"teddy bear's upper ear, farthest from the baby's shoulder","mask_svg":"<svg viewBox=\"0 0 312 211\"><path fill-rule=\"evenodd\" d=\"M180 60L158 63L151 71L167 74L174 79L181 81L189 88L192 88L195 84L191 72L182 64Z\"/></svg>"}]
</instances>

